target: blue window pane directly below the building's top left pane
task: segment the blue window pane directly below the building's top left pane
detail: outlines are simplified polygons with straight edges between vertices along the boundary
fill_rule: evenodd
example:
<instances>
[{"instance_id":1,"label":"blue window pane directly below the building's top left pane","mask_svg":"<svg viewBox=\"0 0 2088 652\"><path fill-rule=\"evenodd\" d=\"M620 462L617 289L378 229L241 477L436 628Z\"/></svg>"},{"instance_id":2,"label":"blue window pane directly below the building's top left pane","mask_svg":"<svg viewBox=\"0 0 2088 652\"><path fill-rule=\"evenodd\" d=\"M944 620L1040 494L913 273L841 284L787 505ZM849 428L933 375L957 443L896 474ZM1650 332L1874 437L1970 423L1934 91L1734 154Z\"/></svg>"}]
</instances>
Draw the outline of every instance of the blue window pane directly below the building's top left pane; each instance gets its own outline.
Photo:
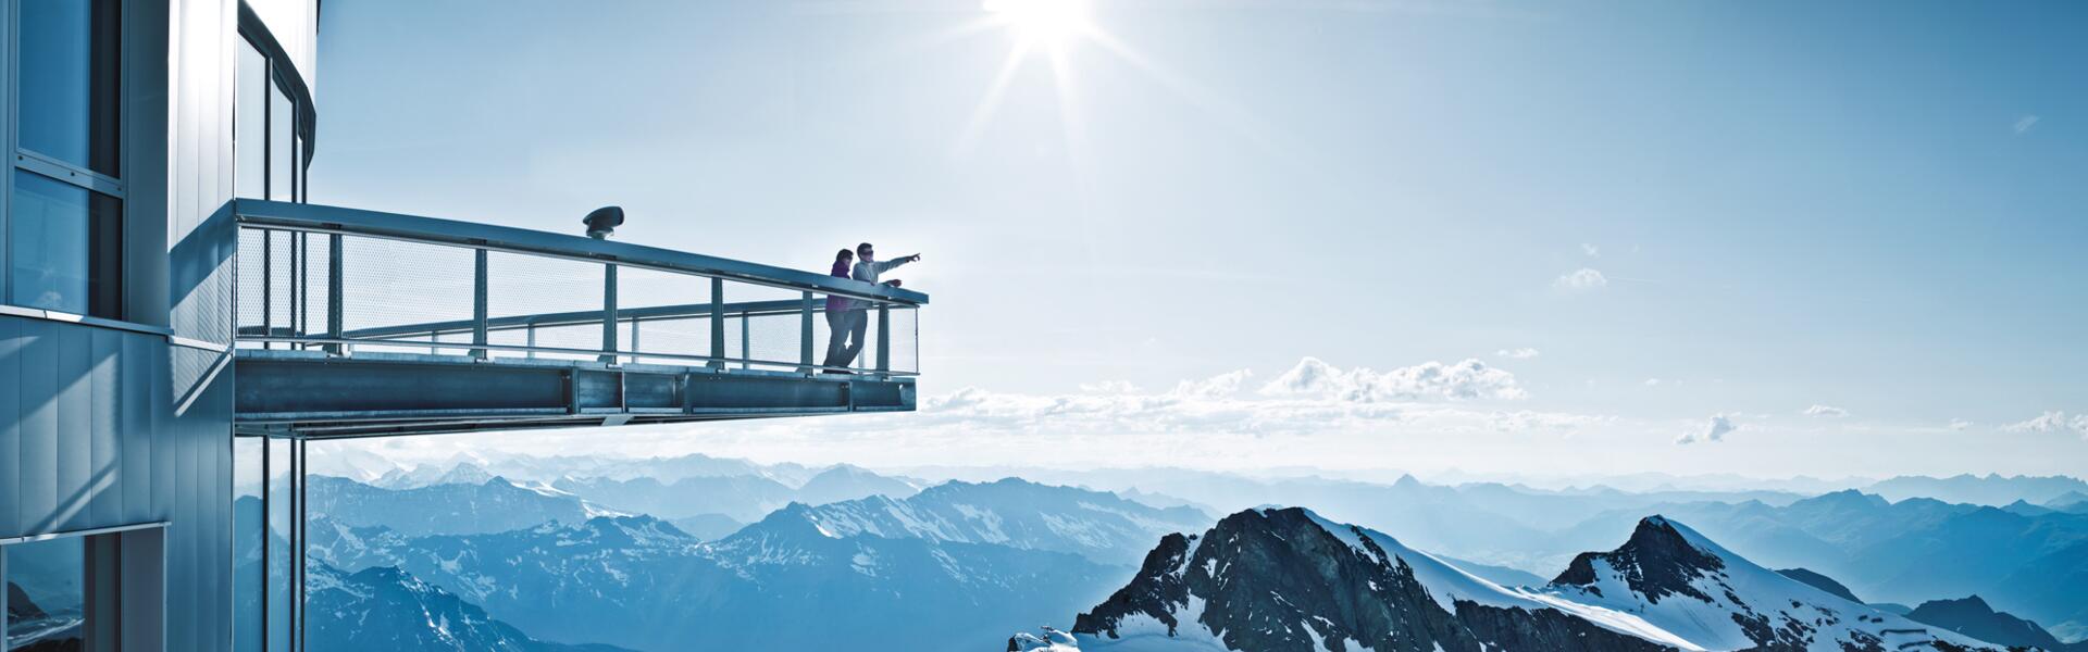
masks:
<instances>
[{"instance_id":1,"label":"blue window pane directly below the building's top left pane","mask_svg":"<svg viewBox=\"0 0 2088 652\"><path fill-rule=\"evenodd\" d=\"M123 211L115 196L15 171L8 290L15 305L121 316Z\"/></svg>"}]
</instances>

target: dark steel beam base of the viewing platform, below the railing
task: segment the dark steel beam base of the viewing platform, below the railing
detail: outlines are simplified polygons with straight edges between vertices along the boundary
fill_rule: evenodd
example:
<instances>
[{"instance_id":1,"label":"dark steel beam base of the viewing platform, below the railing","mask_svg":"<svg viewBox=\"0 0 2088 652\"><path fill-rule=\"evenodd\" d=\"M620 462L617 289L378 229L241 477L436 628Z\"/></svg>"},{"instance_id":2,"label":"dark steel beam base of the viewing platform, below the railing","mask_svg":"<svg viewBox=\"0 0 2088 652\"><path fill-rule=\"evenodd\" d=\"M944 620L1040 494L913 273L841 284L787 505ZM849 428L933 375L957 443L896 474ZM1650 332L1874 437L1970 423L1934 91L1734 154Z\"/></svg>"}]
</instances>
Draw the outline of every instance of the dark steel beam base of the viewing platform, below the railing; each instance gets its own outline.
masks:
<instances>
[{"instance_id":1,"label":"dark steel beam base of the viewing platform, below the railing","mask_svg":"<svg viewBox=\"0 0 2088 652\"><path fill-rule=\"evenodd\" d=\"M912 412L908 376L240 349L236 424L340 439Z\"/></svg>"}]
</instances>

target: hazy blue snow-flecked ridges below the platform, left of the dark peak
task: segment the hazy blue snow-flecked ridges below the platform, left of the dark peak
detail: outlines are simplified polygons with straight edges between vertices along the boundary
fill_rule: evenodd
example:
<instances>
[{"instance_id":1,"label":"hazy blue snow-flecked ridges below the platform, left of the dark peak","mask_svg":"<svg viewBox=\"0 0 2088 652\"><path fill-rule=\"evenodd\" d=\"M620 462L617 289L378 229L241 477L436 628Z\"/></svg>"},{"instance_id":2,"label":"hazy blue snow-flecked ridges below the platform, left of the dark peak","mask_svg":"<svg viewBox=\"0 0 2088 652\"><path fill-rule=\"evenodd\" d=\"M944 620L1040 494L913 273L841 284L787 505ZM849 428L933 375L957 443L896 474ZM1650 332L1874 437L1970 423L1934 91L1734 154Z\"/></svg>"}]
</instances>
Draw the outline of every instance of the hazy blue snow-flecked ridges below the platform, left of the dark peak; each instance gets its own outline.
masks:
<instances>
[{"instance_id":1,"label":"hazy blue snow-flecked ridges below the platform, left of the dark peak","mask_svg":"<svg viewBox=\"0 0 2088 652\"><path fill-rule=\"evenodd\" d=\"M877 631L967 652L1004 644L1006 623L1094 604L1132 573L1079 552L1111 556L1094 545L1148 543L1194 514L1019 481L938 489L798 504L720 541L651 516L426 537L313 518L307 533L317 558L405 568L539 639L816 650ZM1040 548L986 541L994 527Z\"/></svg>"}]
</instances>

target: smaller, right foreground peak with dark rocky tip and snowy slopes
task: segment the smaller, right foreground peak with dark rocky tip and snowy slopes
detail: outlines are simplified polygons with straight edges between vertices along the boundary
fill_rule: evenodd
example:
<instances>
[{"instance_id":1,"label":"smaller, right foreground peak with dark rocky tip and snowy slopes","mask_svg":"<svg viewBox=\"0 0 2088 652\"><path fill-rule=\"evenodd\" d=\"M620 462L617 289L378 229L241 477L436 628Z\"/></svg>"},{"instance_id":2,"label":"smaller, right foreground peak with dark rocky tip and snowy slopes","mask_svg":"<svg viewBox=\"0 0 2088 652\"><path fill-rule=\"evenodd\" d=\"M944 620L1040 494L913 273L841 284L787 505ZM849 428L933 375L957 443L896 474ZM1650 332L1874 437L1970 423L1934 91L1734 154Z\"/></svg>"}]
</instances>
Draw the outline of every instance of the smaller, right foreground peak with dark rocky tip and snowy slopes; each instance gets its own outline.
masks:
<instances>
[{"instance_id":1,"label":"smaller, right foreground peak with dark rocky tip and snowy slopes","mask_svg":"<svg viewBox=\"0 0 2088 652\"><path fill-rule=\"evenodd\" d=\"M1756 566L1662 516L1639 520L1622 548L1581 554L1545 591L1637 614L1704 650L1992 648Z\"/></svg>"}]
</instances>

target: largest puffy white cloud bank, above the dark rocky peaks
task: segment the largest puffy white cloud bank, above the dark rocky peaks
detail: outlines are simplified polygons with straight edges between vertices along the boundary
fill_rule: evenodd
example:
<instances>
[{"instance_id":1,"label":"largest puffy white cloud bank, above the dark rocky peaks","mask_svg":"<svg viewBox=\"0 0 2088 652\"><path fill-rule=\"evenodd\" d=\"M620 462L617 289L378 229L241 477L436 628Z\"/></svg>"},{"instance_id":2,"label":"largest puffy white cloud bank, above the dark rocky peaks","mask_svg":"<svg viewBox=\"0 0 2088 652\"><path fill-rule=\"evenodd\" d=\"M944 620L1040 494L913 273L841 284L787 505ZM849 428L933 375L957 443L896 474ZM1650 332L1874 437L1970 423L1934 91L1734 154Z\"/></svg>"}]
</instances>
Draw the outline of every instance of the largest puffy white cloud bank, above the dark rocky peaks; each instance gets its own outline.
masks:
<instances>
[{"instance_id":1,"label":"largest puffy white cloud bank, above the dark rocky peaks","mask_svg":"<svg viewBox=\"0 0 2088 652\"><path fill-rule=\"evenodd\" d=\"M1322 397L1351 403L1399 399L1524 399L1516 374L1491 368L1478 359L1457 364L1424 362L1389 372L1368 368L1340 370L1318 357L1299 359L1295 368L1261 387L1270 397Z\"/></svg>"}]
</instances>

